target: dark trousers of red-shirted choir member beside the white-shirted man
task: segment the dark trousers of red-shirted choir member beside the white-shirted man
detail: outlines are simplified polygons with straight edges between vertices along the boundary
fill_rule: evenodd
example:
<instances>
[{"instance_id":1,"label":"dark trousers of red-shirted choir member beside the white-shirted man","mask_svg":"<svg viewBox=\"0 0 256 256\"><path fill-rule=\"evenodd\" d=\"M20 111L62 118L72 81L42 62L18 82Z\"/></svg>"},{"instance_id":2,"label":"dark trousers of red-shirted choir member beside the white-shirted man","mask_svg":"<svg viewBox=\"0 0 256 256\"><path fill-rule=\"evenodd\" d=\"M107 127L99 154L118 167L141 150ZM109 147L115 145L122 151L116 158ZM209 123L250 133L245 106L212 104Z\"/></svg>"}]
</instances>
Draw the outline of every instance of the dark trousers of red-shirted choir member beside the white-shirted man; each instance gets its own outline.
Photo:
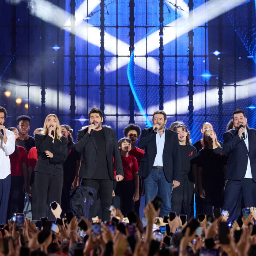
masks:
<instances>
[{"instance_id":1,"label":"dark trousers of red-shirted choir member beside the white-shirted man","mask_svg":"<svg viewBox=\"0 0 256 256\"><path fill-rule=\"evenodd\" d=\"M11 177L11 190L9 195L7 218L10 219L15 212L23 212L25 194L23 193L23 176Z\"/></svg>"}]
</instances>

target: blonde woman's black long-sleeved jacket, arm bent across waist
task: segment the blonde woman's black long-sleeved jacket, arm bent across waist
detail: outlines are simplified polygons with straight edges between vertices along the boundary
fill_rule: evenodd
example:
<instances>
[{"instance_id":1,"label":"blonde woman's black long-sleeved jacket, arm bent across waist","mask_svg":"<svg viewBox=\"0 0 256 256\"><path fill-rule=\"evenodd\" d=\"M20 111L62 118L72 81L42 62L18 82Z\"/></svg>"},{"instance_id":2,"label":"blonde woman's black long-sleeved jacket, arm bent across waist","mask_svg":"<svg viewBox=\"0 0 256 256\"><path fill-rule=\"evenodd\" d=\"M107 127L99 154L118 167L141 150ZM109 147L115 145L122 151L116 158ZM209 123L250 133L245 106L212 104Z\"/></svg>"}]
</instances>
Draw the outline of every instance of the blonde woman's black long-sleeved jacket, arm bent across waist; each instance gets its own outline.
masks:
<instances>
[{"instance_id":1,"label":"blonde woman's black long-sleeved jacket, arm bent across waist","mask_svg":"<svg viewBox=\"0 0 256 256\"><path fill-rule=\"evenodd\" d=\"M35 135L36 148L38 150L38 162L35 166L35 172L50 175L63 174L62 164L68 157L67 139L62 136L61 141L57 138L53 139L49 135ZM53 153L53 158L46 157L46 150Z\"/></svg>"}]
</instances>

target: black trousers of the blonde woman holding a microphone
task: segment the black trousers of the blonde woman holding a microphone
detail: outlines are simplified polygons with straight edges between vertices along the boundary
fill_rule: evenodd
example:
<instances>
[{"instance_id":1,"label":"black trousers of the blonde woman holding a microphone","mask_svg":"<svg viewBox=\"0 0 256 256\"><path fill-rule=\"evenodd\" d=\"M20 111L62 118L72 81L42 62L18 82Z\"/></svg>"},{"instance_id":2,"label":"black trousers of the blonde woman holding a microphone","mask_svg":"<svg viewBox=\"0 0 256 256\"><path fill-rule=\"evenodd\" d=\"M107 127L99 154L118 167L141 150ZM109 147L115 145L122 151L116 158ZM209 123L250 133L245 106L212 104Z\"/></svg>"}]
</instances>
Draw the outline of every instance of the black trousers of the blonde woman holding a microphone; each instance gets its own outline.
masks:
<instances>
[{"instance_id":1,"label":"black trousers of the blonde woman holding a microphone","mask_svg":"<svg viewBox=\"0 0 256 256\"><path fill-rule=\"evenodd\" d=\"M49 204L53 201L61 202L61 191L63 184L63 174L49 175L35 172L35 193L36 193L36 213L35 218L48 217L55 220Z\"/></svg>"}]
</instances>

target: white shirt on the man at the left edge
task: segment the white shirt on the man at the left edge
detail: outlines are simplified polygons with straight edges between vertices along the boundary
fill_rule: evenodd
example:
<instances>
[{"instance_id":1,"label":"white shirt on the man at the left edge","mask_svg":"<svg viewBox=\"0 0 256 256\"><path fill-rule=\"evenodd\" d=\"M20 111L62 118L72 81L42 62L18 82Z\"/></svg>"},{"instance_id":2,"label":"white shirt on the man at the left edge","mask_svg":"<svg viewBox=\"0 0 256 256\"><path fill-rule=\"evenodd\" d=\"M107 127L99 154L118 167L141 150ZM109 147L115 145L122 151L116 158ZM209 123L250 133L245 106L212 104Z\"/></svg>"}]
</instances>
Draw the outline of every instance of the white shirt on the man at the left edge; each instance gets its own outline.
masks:
<instances>
[{"instance_id":1,"label":"white shirt on the man at the left edge","mask_svg":"<svg viewBox=\"0 0 256 256\"><path fill-rule=\"evenodd\" d=\"M0 135L0 180L5 179L11 174L11 164L9 155L15 150L15 135L12 131L5 129L7 142L4 144L4 138Z\"/></svg>"}]
</instances>

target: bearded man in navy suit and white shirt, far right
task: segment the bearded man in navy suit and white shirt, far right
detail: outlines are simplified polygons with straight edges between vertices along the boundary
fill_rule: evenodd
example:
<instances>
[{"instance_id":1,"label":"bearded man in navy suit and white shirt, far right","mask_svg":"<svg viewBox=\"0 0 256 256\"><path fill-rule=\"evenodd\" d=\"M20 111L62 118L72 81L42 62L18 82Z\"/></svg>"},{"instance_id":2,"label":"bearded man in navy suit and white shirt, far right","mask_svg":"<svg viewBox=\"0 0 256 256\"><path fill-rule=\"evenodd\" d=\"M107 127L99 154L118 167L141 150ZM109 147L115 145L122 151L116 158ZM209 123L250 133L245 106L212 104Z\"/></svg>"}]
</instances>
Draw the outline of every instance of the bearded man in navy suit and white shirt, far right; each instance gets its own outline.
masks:
<instances>
[{"instance_id":1,"label":"bearded man in navy suit and white shirt, far right","mask_svg":"<svg viewBox=\"0 0 256 256\"><path fill-rule=\"evenodd\" d=\"M224 151L229 155L226 173L223 210L229 221L236 218L237 203L242 194L245 207L255 206L256 191L256 130L247 127L245 112L233 113L233 129L224 133Z\"/></svg>"}]
</instances>

